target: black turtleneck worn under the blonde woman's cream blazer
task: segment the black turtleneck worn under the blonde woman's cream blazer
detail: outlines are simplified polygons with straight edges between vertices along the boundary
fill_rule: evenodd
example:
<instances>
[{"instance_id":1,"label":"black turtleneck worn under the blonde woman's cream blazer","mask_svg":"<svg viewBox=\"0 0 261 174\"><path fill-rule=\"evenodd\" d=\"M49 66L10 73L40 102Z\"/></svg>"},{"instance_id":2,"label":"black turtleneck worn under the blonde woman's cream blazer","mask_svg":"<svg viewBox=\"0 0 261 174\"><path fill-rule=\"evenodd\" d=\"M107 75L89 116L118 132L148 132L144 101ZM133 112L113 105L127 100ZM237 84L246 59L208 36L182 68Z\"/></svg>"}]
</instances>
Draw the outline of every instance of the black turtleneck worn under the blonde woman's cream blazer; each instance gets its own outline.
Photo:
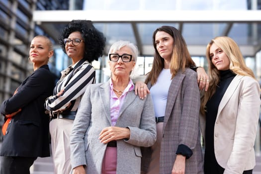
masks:
<instances>
[{"instance_id":1,"label":"black turtleneck worn under the blonde woman's cream blazer","mask_svg":"<svg viewBox=\"0 0 261 174\"><path fill-rule=\"evenodd\" d=\"M214 95L206 103L206 132L205 132L205 158L204 172L205 174L223 174L224 169L221 168L215 158L214 153L214 126L217 118L219 103L226 92L231 81L236 76L230 70L219 71L220 82L216 88Z\"/></svg>"}]
</instances>

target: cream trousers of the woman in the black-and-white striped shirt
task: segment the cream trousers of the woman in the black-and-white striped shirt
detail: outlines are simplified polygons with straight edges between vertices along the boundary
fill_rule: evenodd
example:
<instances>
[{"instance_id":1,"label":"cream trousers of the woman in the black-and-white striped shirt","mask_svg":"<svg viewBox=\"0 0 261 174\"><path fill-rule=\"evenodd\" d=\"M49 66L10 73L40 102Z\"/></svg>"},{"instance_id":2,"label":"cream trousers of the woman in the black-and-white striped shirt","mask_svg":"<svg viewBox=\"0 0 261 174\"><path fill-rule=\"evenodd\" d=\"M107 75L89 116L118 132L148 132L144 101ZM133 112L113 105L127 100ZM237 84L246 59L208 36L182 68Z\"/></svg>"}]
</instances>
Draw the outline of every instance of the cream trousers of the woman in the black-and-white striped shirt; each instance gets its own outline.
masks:
<instances>
[{"instance_id":1,"label":"cream trousers of the woman in the black-and-white striped shirt","mask_svg":"<svg viewBox=\"0 0 261 174\"><path fill-rule=\"evenodd\" d=\"M54 174L72 174L70 135L74 120L56 118L50 122Z\"/></svg>"}]
</instances>

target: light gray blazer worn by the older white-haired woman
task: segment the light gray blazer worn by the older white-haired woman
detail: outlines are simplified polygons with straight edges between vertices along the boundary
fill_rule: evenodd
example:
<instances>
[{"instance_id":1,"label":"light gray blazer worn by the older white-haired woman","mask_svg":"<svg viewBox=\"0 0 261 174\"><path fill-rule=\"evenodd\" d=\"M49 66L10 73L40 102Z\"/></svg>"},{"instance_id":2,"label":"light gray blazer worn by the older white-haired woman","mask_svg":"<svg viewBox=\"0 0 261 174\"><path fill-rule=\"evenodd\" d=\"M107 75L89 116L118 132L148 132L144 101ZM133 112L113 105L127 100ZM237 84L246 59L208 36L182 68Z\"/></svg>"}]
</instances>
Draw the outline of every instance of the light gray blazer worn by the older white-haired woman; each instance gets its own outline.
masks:
<instances>
[{"instance_id":1,"label":"light gray blazer worn by the older white-haired woman","mask_svg":"<svg viewBox=\"0 0 261 174\"><path fill-rule=\"evenodd\" d=\"M71 135L72 167L86 165L87 174L101 174L106 144L100 143L99 133L111 126L110 85L92 84L81 100ZM156 123L150 95L140 99L134 91L127 92L116 126L128 127L129 140L117 140L117 174L139 174L140 147L156 141Z\"/></svg>"}]
</instances>

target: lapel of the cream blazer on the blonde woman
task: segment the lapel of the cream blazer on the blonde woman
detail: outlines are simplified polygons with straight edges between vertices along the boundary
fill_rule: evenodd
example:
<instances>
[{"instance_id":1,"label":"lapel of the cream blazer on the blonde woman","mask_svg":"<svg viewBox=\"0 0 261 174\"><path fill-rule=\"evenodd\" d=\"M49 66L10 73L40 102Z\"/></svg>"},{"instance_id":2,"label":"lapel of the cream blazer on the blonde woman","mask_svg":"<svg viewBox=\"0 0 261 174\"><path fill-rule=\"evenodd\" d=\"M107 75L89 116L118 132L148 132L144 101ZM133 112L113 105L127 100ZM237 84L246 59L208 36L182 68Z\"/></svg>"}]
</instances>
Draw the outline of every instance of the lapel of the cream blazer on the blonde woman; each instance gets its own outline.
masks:
<instances>
[{"instance_id":1,"label":"lapel of the cream blazer on the blonde woman","mask_svg":"<svg viewBox=\"0 0 261 174\"><path fill-rule=\"evenodd\" d=\"M232 82L230 83L230 85L228 86L226 92L224 93L219 106L218 106L218 113L217 113L217 118L220 114L220 112L222 111L222 109L225 107L225 105L227 104L228 100L231 98L231 96L233 95L233 93L235 92L235 89L238 87L240 81L241 81L242 76L236 76Z\"/></svg>"}]
</instances>

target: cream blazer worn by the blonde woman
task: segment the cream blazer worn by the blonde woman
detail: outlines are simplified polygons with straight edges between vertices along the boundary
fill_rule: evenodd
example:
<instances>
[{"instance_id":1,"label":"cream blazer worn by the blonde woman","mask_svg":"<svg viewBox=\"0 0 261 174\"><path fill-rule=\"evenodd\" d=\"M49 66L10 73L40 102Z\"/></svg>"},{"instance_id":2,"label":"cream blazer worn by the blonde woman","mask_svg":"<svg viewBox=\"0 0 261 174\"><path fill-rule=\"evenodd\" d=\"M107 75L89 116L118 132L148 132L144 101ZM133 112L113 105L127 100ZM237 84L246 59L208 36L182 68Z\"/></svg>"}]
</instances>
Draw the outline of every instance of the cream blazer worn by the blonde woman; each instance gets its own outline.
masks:
<instances>
[{"instance_id":1,"label":"cream blazer worn by the blonde woman","mask_svg":"<svg viewBox=\"0 0 261 174\"><path fill-rule=\"evenodd\" d=\"M214 151L224 174L242 174L256 165L254 144L260 113L260 87L256 80L237 75L218 107L214 127ZM205 137L206 118L200 115Z\"/></svg>"}]
</instances>

